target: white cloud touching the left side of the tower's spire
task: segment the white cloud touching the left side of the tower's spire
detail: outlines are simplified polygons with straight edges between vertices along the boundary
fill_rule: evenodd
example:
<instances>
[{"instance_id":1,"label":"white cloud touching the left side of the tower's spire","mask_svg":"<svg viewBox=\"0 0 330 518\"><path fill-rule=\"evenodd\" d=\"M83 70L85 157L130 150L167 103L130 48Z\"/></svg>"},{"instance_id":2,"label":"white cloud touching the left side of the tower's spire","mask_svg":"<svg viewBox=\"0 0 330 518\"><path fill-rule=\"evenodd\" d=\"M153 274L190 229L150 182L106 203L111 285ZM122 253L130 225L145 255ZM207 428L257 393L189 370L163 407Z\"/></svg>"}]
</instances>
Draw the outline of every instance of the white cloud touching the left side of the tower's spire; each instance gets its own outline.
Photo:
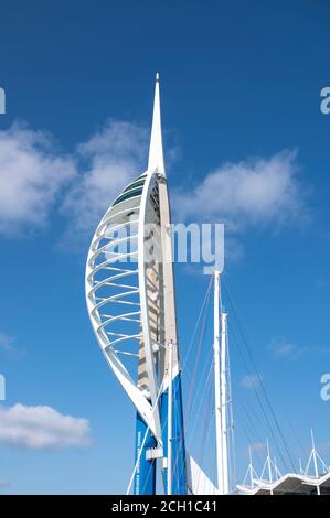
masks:
<instances>
[{"instance_id":1,"label":"white cloud touching the left side of the tower's spire","mask_svg":"<svg viewBox=\"0 0 330 518\"><path fill-rule=\"evenodd\" d=\"M62 212L70 219L64 244L72 247L95 229L123 187L145 172L146 131L138 125L108 120L77 148L82 173L66 193Z\"/></svg>"}]
</instances>

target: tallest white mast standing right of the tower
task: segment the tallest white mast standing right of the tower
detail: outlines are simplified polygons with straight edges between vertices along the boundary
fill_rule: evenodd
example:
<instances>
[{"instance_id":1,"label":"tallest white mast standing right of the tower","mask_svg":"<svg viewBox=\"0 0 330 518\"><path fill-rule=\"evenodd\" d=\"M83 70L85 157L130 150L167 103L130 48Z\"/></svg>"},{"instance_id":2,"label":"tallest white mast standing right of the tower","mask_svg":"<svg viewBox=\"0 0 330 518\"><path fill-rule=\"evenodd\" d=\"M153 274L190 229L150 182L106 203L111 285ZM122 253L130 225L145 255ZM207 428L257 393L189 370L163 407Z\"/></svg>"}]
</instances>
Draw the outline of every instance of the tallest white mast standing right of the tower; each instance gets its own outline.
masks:
<instances>
[{"instance_id":1,"label":"tallest white mast standing right of the tower","mask_svg":"<svg viewBox=\"0 0 330 518\"><path fill-rule=\"evenodd\" d=\"M220 382L220 271L214 271L214 416L215 416L215 444L216 444L216 475L217 490L224 494L223 483L223 451L222 451L222 427L221 427L221 382Z\"/></svg>"}]
</instances>

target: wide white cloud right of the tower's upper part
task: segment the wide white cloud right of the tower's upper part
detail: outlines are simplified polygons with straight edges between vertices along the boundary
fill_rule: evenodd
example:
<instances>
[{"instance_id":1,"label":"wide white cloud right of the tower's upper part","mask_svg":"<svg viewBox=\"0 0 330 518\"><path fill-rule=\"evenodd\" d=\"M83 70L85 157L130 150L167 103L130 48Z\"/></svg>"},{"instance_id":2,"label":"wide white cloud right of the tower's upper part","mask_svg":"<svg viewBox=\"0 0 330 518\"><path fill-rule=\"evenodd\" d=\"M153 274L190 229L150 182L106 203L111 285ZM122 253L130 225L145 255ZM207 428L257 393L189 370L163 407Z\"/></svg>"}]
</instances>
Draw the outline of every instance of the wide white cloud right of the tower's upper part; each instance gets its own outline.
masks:
<instances>
[{"instance_id":1,"label":"wide white cloud right of the tower's upper part","mask_svg":"<svg viewBox=\"0 0 330 518\"><path fill-rule=\"evenodd\" d=\"M174 193L178 219L224 222L232 230L306 218L296 152L225 163L189 192Z\"/></svg>"}]
</instances>

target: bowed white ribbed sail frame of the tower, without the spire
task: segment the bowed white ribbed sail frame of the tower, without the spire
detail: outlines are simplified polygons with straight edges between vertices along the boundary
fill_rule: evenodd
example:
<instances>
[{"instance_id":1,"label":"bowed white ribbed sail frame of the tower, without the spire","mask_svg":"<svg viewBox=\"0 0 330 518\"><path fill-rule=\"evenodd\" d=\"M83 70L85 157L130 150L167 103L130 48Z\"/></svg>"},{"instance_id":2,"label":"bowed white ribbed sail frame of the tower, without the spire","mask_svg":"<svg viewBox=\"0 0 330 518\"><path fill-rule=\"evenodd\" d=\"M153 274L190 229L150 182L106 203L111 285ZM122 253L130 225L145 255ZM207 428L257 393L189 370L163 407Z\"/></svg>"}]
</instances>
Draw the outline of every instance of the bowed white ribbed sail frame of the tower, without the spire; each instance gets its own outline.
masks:
<instances>
[{"instance_id":1,"label":"bowed white ribbed sail frame of the tower, without the spire","mask_svg":"<svg viewBox=\"0 0 330 518\"><path fill-rule=\"evenodd\" d=\"M86 301L87 309L91 319L91 323L94 330L94 333L97 337L99 346L111 367L115 376L118 378L126 393L137 408L138 412L145 420L145 422L150 427L150 430L153 436L157 439L158 443L161 444L161 430L160 430L160 419L158 407L153 407L157 400L158 385L157 377L155 371L155 360L153 360L153 345L150 339L150 330L148 322L148 311L147 311L147 294L146 294L146 278L145 278L145 215L146 207L148 205L148 194L150 192L150 186L155 182L155 174L147 175L142 194L138 196L139 203L135 203L134 207L131 203L126 203L126 201L120 202L118 205L111 205L111 207L106 212L105 216L102 218L89 247L87 263L86 263L86 276L85 276L85 288L86 288ZM129 198L129 202L135 198ZM121 205L121 207L119 206ZM117 211L117 207L120 211ZM114 214L111 211L115 209ZM106 259L102 263L96 263L96 259L99 258L102 253L108 252L109 248L114 248L123 239L114 239L107 245L99 247L99 244L103 239L107 238L108 224L111 218L125 216L131 211L139 211L138 219L129 222L129 224L121 223L116 225L114 229L118 229L124 225L131 225L138 223L138 234L126 237L127 245L129 241L138 240L138 251L127 252L127 253L114 253L114 257ZM128 246L129 249L129 246ZM125 262L129 260L129 256L136 255L138 257L138 268L136 270L125 268ZM115 273L106 277L102 281L96 280L96 273L110 268L110 271ZM118 279L124 279L128 277L136 277L138 281L135 285L118 284L115 281ZM109 287L109 296L106 299L98 300L97 291L100 288ZM119 293L113 294L110 292L111 288L119 288ZM125 300L131 294L139 294L140 303L130 302ZM124 300L123 300L124 299ZM110 302L123 303L124 305L139 305L137 311L124 311L117 315L106 315L103 313L103 306ZM113 333L111 331L105 331L105 328L113 322L123 322L123 333ZM138 387L136 380L130 376L128 368L125 366L124 361L119 358L120 354L128 356L137 356L135 352L126 350L118 352L115 349L115 345L123 342L131 342L134 339L139 341L141 334L129 334L125 333L125 323L135 322L141 326L141 332L143 335L145 343L145 354L148 366L149 374L149 384L150 384L150 396L151 402L149 401L149 395L143 393ZM110 339L110 336L114 336L115 339Z\"/></svg>"}]
</instances>

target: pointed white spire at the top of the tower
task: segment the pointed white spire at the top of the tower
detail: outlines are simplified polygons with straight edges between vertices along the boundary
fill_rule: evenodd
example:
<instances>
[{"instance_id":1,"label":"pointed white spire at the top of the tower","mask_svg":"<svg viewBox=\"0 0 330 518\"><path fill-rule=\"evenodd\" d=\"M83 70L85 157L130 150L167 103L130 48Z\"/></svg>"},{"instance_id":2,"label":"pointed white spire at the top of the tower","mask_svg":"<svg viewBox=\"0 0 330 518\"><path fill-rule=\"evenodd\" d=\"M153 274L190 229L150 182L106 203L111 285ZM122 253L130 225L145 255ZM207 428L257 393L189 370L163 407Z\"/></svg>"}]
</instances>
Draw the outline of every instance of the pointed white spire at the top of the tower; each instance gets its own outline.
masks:
<instances>
[{"instance_id":1,"label":"pointed white spire at the top of the tower","mask_svg":"<svg viewBox=\"0 0 330 518\"><path fill-rule=\"evenodd\" d=\"M158 73L156 74L148 172L151 173L156 169L159 171L159 173L166 174L164 163L163 163L163 151L162 151L161 116L160 116L160 99L159 99L159 74Z\"/></svg>"}]
</instances>

